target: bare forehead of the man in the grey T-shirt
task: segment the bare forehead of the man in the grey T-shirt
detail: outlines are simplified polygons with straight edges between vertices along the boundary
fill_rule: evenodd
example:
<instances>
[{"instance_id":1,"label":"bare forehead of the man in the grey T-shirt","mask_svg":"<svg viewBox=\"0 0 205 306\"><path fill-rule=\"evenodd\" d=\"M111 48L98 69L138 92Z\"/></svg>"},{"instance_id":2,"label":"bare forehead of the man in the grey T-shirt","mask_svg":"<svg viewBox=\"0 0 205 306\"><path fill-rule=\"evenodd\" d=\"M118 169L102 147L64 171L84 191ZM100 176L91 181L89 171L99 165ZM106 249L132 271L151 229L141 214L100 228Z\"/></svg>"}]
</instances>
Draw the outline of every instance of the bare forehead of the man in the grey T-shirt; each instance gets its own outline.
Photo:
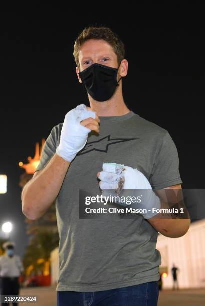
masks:
<instances>
[{"instance_id":1,"label":"bare forehead of the man in the grey T-shirt","mask_svg":"<svg viewBox=\"0 0 205 306\"><path fill-rule=\"evenodd\" d=\"M107 41L102 39L90 39L81 45L79 50L79 61L86 57L95 57L100 55L117 57L112 46Z\"/></svg>"}]
</instances>

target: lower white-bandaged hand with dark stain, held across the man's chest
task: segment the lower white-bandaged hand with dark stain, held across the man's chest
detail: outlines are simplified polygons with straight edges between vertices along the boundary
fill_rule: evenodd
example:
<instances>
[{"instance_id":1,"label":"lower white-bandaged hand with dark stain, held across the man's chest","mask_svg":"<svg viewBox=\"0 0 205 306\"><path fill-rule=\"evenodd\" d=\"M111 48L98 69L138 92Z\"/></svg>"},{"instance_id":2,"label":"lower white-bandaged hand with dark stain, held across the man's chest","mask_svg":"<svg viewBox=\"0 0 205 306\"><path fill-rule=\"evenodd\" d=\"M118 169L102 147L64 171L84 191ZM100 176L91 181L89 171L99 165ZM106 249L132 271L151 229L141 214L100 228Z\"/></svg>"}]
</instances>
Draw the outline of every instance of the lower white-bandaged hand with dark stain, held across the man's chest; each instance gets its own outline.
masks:
<instances>
[{"instance_id":1,"label":"lower white-bandaged hand with dark stain, held across the man's chest","mask_svg":"<svg viewBox=\"0 0 205 306\"><path fill-rule=\"evenodd\" d=\"M113 196L113 201L124 207L131 206L135 209L146 209L147 212L142 213L145 219L149 219L157 214L157 212L152 212L153 207L156 207L156 209L160 209L161 207L160 199L153 192L148 179L137 169L124 166L123 164L103 163L103 171L98 173L98 178L100 179L99 187L103 196ZM123 192L126 191L126 189L129 190ZM141 189L141 202L134 202L130 205L122 202L121 194L124 193L125 197L130 195L133 196L133 189Z\"/></svg>"}]
</instances>

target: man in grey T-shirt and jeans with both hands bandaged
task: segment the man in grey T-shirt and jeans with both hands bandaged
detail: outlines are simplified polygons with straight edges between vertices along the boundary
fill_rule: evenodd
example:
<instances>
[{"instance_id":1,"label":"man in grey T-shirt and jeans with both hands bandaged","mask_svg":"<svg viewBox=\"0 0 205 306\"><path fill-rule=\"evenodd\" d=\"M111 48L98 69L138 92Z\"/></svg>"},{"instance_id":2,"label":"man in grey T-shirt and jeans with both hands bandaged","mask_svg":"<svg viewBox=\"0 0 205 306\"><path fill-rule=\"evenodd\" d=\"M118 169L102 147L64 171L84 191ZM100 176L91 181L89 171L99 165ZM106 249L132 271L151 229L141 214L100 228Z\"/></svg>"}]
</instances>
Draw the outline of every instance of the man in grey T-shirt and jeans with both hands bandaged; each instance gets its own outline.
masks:
<instances>
[{"instance_id":1,"label":"man in grey T-shirt and jeans with both hands bandaged","mask_svg":"<svg viewBox=\"0 0 205 306\"><path fill-rule=\"evenodd\" d=\"M136 183L136 177L155 190L181 188L177 150L166 130L126 106L122 77L128 61L117 34L107 27L85 28L76 39L74 58L91 107L77 106L52 129L33 179L22 191L22 210L35 220L56 199L58 305L156 305L158 231L182 236L189 219L79 218L79 195L81 190L98 194L106 184L117 189L123 171L121 188L127 181Z\"/></svg>"}]
</instances>

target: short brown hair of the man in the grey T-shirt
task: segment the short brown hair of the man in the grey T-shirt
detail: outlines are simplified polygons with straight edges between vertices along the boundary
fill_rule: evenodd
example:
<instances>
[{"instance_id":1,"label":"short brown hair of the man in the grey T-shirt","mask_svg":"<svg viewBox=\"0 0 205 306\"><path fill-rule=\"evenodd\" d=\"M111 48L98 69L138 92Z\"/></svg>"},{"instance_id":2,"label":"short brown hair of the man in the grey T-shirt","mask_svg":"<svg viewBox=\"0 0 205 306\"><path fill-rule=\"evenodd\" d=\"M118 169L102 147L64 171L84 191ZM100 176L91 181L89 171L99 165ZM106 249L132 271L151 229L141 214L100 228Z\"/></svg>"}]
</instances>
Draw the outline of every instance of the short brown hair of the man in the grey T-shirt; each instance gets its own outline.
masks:
<instances>
[{"instance_id":1,"label":"short brown hair of the man in the grey T-shirt","mask_svg":"<svg viewBox=\"0 0 205 306\"><path fill-rule=\"evenodd\" d=\"M125 49L124 43L119 38L117 33L114 33L109 27L106 26L88 26L85 27L82 32L77 37L75 44L74 44L74 51L73 56L78 68L80 68L78 55L80 51L81 45L89 40L89 39L103 39L107 41L113 48L115 54L117 55L118 65L120 64L121 60L125 57Z\"/></svg>"}]
</instances>

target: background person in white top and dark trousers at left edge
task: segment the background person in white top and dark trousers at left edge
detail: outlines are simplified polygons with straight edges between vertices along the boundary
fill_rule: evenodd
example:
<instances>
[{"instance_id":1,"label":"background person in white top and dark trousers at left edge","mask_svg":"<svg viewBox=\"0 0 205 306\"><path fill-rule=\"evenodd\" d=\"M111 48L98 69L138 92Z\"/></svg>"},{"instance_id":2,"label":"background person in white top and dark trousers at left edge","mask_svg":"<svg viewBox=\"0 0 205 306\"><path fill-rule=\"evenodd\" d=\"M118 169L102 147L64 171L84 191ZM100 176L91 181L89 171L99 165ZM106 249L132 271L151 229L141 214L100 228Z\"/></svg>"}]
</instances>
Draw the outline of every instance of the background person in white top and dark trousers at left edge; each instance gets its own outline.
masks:
<instances>
[{"instance_id":1,"label":"background person in white top and dark trousers at left edge","mask_svg":"<svg viewBox=\"0 0 205 306\"><path fill-rule=\"evenodd\" d=\"M0 256L0 295L19 295L19 276L23 274L24 267L20 257L14 254L14 247L15 243L12 241L3 244L6 255ZM2 301L2 305L9 303Z\"/></svg>"}]
</instances>

